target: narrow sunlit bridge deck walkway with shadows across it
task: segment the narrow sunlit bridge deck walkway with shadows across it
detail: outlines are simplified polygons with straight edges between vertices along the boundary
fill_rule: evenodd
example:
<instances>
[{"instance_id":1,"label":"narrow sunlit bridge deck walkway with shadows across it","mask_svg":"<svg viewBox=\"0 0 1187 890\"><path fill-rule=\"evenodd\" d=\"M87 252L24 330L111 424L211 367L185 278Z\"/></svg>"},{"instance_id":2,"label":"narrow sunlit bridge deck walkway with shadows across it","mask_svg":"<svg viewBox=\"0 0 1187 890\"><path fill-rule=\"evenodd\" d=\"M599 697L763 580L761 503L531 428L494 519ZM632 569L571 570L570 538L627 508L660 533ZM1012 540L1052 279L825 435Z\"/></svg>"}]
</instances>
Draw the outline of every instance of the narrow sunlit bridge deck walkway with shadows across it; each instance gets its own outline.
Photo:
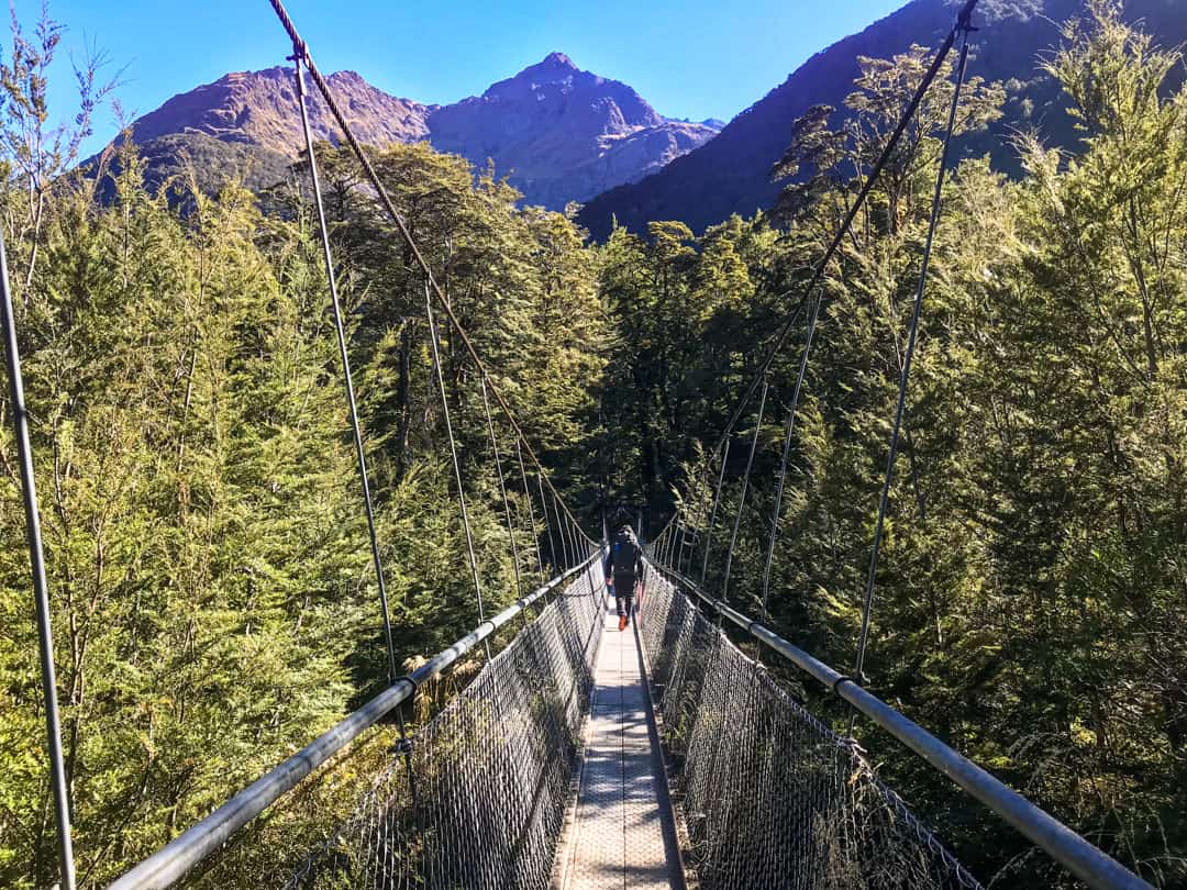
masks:
<instances>
[{"instance_id":1,"label":"narrow sunlit bridge deck walkway with shadows across it","mask_svg":"<svg viewBox=\"0 0 1187 890\"><path fill-rule=\"evenodd\" d=\"M684 888L659 737L634 625L612 600L595 666L580 786L558 851L559 890Z\"/></svg>"}]
</instances>

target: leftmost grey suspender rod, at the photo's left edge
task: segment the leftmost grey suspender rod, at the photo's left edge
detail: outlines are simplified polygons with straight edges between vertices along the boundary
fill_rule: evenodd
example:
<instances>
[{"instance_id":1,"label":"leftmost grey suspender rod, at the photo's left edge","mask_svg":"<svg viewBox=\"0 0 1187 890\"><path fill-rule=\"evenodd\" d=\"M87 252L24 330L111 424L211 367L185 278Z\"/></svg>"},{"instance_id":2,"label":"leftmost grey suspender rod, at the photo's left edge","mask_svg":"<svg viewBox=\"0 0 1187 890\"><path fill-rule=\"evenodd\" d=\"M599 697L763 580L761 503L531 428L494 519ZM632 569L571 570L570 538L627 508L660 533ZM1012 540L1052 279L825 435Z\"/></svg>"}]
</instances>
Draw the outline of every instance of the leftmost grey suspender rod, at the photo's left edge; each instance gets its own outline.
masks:
<instances>
[{"instance_id":1,"label":"leftmost grey suspender rod, at the photo's left edge","mask_svg":"<svg viewBox=\"0 0 1187 890\"><path fill-rule=\"evenodd\" d=\"M17 319L8 287L8 258L0 234L0 309L4 311L5 358L8 365L8 398L12 425L20 460L20 487L25 501L25 535L33 573L33 603L37 608L37 646L42 656L42 694L45 699L45 732L50 748L50 788L53 790L53 818L58 832L58 878L63 890L75 889L74 840L70 834L70 790L66 787L65 758L62 756L62 720L58 716L58 680L53 670L53 629L50 623L50 593L45 579L45 549L42 546L42 516L37 506L33 477L33 446L28 439L28 411L25 408L25 381L17 347Z\"/></svg>"}]
</instances>

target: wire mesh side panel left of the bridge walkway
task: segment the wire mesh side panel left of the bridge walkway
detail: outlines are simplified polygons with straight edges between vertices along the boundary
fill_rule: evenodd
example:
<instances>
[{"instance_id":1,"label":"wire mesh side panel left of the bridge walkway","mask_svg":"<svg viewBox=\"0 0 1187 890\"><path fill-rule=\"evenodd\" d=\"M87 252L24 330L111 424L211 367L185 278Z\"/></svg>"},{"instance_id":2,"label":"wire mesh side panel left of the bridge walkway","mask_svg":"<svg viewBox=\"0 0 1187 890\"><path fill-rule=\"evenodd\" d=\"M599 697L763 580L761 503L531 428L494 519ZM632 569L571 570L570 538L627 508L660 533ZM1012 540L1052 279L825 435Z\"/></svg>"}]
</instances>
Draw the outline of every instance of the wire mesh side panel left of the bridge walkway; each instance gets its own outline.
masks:
<instances>
[{"instance_id":1,"label":"wire mesh side panel left of the bridge walkway","mask_svg":"<svg viewBox=\"0 0 1187 890\"><path fill-rule=\"evenodd\" d=\"M418 731L287 882L547 888L589 704L605 583L595 562Z\"/></svg>"}]
</instances>

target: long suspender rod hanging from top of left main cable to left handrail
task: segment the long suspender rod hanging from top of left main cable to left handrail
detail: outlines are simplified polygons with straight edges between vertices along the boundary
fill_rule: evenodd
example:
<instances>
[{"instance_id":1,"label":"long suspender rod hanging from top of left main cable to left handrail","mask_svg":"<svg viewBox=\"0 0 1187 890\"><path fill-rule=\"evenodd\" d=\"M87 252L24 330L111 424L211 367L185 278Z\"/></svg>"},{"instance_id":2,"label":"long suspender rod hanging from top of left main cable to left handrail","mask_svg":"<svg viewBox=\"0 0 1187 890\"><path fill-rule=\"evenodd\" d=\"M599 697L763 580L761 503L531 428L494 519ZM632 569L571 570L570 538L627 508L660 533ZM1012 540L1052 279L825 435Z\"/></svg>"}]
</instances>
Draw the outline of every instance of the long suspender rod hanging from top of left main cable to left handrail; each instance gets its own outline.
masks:
<instances>
[{"instance_id":1,"label":"long suspender rod hanging from top of left main cable to left handrail","mask_svg":"<svg viewBox=\"0 0 1187 890\"><path fill-rule=\"evenodd\" d=\"M350 376L350 358L347 355L347 331L342 320L342 305L338 300L338 281L334 272L334 253L330 250L330 230L325 222L325 208L322 204L322 182L317 171L317 158L313 154L313 133L309 126L309 109L305 106L305 76L301 63L305 61L303 46L293 45L293 74L297 78L297 106L300 108L301 129L305 133L305 151L309 153L309 173L313 183L313 205L317 208L317 224L322 235L322 253L325 260L325 274L330 281L330 304L334 310L334 328L338 333L338 352L342 358L342 379L347 387L347 403L350 408L350 430L355 437L355 456L358 459L358 478L363 487L363 504L367 509L367 532L370 535L372 562L375 567L375 579L379 583L379 602L383 612L383 638L387 643L388 682L394 682L399 672L395 668L395 644L392 640L392 618L387 603L387 585L383 581L383 561L379 553L379 538L375 534L375 510L372 506L370 483L367 478L367 458L363 454L363 437L358 426L358 406L355 402L355 384Z\"/></svg>"}]
</instances>

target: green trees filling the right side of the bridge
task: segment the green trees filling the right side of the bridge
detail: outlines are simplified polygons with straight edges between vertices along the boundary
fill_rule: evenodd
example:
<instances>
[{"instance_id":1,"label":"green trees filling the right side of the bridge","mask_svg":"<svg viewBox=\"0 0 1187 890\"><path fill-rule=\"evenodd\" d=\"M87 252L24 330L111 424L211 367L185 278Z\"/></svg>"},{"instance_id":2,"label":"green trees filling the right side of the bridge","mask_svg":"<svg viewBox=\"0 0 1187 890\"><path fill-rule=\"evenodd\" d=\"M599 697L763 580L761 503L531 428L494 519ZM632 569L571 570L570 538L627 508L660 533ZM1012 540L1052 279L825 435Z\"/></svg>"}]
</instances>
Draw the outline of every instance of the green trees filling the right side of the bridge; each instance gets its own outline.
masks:
<instances>
[{"instance_id":1,"label":"green trees filling the right side of the bridge","mask_svg":"<svg viewBox=\"0 0 1187 890\"><path fill-rule=\"evenodd\" d=\"M718 471L702 446L769 342L766 307L802 279L770 271L820 255L926 62L919 49L863 59L846 133L827 129L827 109L801 119L774 172L807 178L785 192L782 230L737 223L761 233L763 253L737 301L724 284L736 279L718 269L709 324L698 324L704 304L693 294L705 266L724 265L719 231L680 237L677 252L671 227L653 225L650 243L615 233L605 248L611 306L662 312L656 294L679 305L679 322L658 320L659 333L626 356L643 407L617 411L630 425L621 441L661 443L652 503L666 513L664 489L675 490L700 533L698 572ZM1176 886L1187 879L1187 91L1173 89L1180 56L1121 24L1104 0L1068 26L1047 66L1080 122L1083 153L1020 138L1021 182L969 160L945 192L867 674L941 738L1153 883ZM960 131L992 121L1002 98L996 85L970 84ZM948 102L951 88L937 91L827 271L796 418L767 605L785 635L838 667L853 661ZM774 317L793 307L783 301ZM737 350L724 360L718 332ZM730 599L750 612L762 606L798 333L770 375L731 570ZM659 356L681 358L656 371ZM672 422L662 407L694 368L713 382L697 389L697 413ZM734 433L711 583L722 578L755 407ZM662 426L631 428L648 422ZM893 740L863 735L883 774L983 878L1071 885Z\"/></svg>"}]
</instances>

